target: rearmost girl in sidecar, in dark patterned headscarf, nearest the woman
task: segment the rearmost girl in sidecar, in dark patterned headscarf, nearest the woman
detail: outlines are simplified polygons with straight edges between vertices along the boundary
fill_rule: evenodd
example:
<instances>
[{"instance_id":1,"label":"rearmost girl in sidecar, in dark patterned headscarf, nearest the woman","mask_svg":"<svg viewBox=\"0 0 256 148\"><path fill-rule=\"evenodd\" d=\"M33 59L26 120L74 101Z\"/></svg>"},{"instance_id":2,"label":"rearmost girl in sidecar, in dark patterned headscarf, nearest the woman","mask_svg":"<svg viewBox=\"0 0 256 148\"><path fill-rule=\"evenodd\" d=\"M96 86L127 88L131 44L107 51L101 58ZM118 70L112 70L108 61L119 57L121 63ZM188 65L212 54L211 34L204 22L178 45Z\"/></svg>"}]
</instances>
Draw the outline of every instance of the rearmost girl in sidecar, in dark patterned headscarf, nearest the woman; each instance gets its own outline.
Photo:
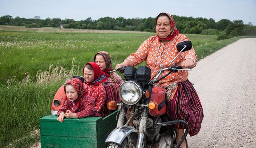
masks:
<instances>
[{"instance_id":1,"label":"rearmost girl in sidecar, in dark patterned headscarf, nearest the woman","mask_svg":"<svg viewBox=\"0 0 256 148\"><path fill-rule=\"evenodd\" d=\"M105 51L100 51L94 55L94 62L98 64L100 69L105 73L105 75L108 77L107 81L103 82L102 85L113 85L113 84L122 84L124 81L122 78L116 74L115 72L113 73L108 73L109 71L112 71L112 62L111 58L108 54L108 52Z\"/></svg>"}]
</instances>

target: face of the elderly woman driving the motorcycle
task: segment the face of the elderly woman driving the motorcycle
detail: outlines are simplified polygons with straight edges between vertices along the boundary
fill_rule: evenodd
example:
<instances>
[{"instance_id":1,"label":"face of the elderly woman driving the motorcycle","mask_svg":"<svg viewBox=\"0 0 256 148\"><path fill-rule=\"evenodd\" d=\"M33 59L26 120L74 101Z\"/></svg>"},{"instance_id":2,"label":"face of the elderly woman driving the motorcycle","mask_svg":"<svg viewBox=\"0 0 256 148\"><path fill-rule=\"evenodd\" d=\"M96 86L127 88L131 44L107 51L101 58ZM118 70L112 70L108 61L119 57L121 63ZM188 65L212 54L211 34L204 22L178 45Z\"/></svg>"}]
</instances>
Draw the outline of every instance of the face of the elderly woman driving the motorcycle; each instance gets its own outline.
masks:
<instances>
[{"instance_id":1,"label":"face of the elderly woman driving the motorcycle","mask_svg":"<svg viewBox=\"0 0 256 148\"><path fill-rule=\"evenodd\" d=\"M170 19L167 16L160 16L156 21L156 34L161 38L166 38L171 32Z\"/></svg>"}]
</instances>

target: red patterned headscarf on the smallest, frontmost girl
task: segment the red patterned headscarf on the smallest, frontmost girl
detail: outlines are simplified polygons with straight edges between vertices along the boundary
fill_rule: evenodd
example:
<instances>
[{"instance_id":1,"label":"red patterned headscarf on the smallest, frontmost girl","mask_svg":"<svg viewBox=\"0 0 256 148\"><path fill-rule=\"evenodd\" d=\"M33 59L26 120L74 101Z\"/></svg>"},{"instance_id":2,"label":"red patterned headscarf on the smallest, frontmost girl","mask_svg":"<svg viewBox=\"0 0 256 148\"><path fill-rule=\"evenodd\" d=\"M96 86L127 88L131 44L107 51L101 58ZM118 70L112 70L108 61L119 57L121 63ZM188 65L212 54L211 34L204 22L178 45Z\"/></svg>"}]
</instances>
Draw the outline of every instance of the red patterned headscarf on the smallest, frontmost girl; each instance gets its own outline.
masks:
<instances>
[{"instance_id":1,"label":"red patterned headscarf on the smallest, frontmost girl","mask_svg":"<svg viewBox=\"0 0 256 148\"><path fill-rule=\"evenodd\" d=\"M80 100L86 93L88 93L87 90L85 90L83 87L83 82L77 78L68 79L67 82L65 82L65 84L66 83L71 84L76 89L78 93L78 98L76 100ZM64 91L66 93L65 87Z\"/></svg>"}]
</instances>

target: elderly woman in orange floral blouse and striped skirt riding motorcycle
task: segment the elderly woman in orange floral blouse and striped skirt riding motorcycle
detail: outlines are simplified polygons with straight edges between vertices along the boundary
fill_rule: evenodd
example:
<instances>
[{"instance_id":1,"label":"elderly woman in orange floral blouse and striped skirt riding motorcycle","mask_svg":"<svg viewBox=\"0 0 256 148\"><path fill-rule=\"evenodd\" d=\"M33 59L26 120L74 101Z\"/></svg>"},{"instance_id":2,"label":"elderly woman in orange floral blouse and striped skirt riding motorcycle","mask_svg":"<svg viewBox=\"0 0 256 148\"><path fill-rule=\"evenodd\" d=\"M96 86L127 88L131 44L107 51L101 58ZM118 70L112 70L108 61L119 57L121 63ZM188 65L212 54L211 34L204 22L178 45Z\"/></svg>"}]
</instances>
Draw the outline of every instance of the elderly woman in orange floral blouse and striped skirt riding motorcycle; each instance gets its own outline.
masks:
<instances>
[{"instance_id":1,"label":"elderly woman in orange floral blouse and striped skirt riding motorcycle","mask_svg":"<svg viewBox=\"0 0 256 148\"><path fill-rule=\"evenodd\" d=\"M144 41L135 53L130 54L123 63L117 64L116 69L122 66L136 66L146 61L146 66L152 70L151 77L153 77L161 68L173 66L175 63L183 68L196 66L196 53L193 47L170 63L178 53L176 45L189 40L185 35L179 34L172 15L160 13L156 17L155 28L156 35ZM177 73L170 73L158 84L166 89L168 95L166 120L186 121L189 125L189 135L194 136L200 131L204 114L196 90L187 77L188 71L180 70ZM176 88L174 89L173 86ZM184 133L184 126L176 124L175 128L179 141ZM188 147L187 140L184 140L180 147Z\"/></svg>"}]
</instances>

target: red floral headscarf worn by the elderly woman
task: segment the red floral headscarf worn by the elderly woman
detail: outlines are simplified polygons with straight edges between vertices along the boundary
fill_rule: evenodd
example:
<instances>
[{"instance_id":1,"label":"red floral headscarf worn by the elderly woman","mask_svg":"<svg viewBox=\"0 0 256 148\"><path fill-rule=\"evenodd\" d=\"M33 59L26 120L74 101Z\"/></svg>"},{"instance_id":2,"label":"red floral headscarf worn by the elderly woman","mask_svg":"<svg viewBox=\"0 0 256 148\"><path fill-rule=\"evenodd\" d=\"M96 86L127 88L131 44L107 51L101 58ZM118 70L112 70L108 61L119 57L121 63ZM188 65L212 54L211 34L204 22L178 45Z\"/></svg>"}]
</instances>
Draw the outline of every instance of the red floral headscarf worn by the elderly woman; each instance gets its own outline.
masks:
<instances>
[{"instance_id":1,"label":"red floral headscarf worn by the elderly woman","mask_svg":"<svg viewBox=\"0 0 256 148\"><path fill-rule=\"evenodd\" d=\"M161 41L161 40L171 40L175 35L178 35L178 34L179 34L179 30L176 28L176 25L175 25L173 16L172 16L171 14L165 13L165 12L162 12L162 13L158 14L157 17L156 17L156 21L155 21L155 28L156 28L157 19L158 19L160 16L168 16L168 17L169 17L170 23L171 23L171 32L170 32L170 34L169 34L166 38L164 38L164 39L162 39L161 37L159 37L159 36L157 35L157 40L158 40L158 41Z\"/></svg>"}]
</instances>

